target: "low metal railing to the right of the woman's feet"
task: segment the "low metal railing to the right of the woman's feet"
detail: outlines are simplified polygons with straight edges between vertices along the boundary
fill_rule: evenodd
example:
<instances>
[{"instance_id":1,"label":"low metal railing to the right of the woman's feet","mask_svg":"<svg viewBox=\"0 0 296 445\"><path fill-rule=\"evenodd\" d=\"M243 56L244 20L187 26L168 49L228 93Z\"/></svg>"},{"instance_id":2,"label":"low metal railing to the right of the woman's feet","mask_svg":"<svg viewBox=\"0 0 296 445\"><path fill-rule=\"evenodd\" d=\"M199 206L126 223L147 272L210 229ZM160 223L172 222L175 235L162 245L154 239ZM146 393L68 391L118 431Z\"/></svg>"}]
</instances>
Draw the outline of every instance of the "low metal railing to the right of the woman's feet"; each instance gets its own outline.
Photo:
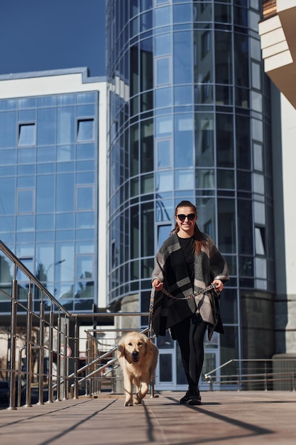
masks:
<instances>
[{"instance_id":1,"label":"low metal railing to the right of the woman's feet","mask_svg":"<svg viewBox=\"0 0 296 445\"><path fill-rule=\"evenodd\" d=\"M296 390L296 357L229 360L204 374L209 390Z\"/></svg>"}]
</instances>

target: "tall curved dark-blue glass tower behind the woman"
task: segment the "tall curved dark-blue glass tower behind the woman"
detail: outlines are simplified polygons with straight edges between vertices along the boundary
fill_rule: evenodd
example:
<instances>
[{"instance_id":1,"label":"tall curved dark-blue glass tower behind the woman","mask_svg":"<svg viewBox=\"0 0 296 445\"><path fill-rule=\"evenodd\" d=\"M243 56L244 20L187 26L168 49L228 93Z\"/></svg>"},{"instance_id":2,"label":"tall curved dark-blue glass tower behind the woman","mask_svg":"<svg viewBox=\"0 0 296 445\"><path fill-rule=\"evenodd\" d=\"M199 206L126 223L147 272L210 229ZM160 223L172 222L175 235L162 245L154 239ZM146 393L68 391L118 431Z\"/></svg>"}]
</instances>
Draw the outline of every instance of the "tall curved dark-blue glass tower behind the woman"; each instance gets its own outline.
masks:
<instances>
[{"instance_id":1,"label":"tall curved dark-blue glass tower behind the woman","mask_svg":"<svg viewBox=\"0 0 296 445\"><path fill-rule=\"evenodd\" d=\"M136 294L148 310L155 252L177 203L192 200L231 273L221 297L226 335L205 345L204 371L231 358L270 357L273 192L261 1L109 0L106 14L109 306ZM182 387L175 345L162 340L157 385Z\"/></svg>"}]
</instances>

